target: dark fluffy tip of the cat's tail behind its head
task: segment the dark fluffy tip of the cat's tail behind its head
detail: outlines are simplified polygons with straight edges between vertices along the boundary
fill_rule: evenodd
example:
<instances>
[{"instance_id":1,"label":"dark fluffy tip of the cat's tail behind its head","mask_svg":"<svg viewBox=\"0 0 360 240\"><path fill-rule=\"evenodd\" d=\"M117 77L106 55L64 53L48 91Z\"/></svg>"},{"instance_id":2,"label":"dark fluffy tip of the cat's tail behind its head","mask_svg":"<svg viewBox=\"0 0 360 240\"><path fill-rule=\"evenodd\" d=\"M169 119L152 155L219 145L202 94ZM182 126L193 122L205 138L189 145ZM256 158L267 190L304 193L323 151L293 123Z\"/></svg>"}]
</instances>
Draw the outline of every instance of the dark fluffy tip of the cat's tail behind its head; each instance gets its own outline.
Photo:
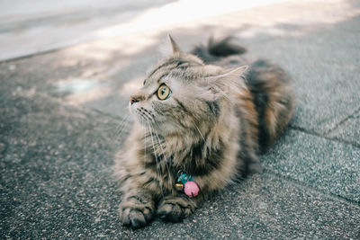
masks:
<instances>
[{"instance_id":1,"label":"dark fluffy tip of the cat's tail behind its head","mask_svg":"<svg viewBox=\"0 0 360 240\"><path fill-rule=\"evenodd\" d=\"M205 63L211 63L219 60L219 58L247 52L247 49L238 45L233 40L233 37L226 37L221 40L213 40L213 38L210 38L207 45L196 46L191 53L202 58Z\"/></svg>"}]
</instances>

